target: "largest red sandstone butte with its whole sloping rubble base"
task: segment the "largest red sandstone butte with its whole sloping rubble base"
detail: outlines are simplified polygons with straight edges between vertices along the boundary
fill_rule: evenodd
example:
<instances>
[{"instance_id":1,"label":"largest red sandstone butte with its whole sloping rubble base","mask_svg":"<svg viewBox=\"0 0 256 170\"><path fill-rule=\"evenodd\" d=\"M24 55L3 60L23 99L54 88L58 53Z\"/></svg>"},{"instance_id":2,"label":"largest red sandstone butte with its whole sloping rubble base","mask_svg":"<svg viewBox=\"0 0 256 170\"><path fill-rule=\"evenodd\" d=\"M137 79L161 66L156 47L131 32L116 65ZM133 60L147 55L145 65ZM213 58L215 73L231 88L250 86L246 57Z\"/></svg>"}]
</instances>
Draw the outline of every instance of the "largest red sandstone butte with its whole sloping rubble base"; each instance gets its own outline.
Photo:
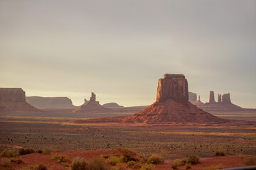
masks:
<instances>
[{"instance_id":1,"label":"largest red sandstone butte with its whole sloping rubble base","mask_svg":"<svg viewBox=\"0 0 256 170\"><path fill-rule=\"evenodd\" d=\"M125 123L224 123L188 102L188 81L183 74L165 74L159 79L156 102L122 120Z\"/></svg>"}]
</instances>

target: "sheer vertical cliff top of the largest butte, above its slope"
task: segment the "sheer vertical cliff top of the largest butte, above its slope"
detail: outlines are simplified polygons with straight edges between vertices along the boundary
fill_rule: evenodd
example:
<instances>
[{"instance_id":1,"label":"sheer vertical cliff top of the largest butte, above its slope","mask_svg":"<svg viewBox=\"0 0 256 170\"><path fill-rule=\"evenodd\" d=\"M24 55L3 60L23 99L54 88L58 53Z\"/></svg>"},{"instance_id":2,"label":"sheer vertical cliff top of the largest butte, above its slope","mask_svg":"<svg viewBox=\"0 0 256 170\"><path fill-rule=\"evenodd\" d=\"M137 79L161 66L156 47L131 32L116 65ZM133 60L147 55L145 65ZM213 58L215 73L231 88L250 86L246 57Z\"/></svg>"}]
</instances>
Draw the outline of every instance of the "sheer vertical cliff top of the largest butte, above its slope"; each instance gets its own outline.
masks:
<instances>
[{"instance_id":1,"label":"sheer vertical cliff top of the largest butte, above its slope","mask_svg":"<svg viewBox=\"0 0 256 170\"><path fill-rule=\"evenodd\" d=\"M159 79L156 102L170 98L179 103L188 101L188 81L183 74L164 74L164 79Z\"/></svg>"}]
</instances>

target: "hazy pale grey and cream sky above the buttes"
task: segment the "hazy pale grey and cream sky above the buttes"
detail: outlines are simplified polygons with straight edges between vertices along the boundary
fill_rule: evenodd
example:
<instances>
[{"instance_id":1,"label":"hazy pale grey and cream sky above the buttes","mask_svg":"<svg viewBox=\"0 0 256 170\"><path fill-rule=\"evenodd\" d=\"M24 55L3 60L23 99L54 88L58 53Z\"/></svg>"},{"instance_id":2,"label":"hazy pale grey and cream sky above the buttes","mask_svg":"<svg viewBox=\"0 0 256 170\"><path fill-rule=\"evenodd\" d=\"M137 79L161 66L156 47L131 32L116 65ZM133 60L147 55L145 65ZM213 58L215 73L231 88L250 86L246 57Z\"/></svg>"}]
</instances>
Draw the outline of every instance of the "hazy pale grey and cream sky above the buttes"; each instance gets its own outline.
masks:
<instances>
[{"instance_id":1,"label":"hazy pale grey and cream sky above the buttes","mask_svg":"<svg viewBox=\"0 0 256 170\"><path fill-rule=\"evenodd\" d=\"M256 1L0 0L1 87L142 106L166 73L256 108Z\"/></svg>"}]
</instances>

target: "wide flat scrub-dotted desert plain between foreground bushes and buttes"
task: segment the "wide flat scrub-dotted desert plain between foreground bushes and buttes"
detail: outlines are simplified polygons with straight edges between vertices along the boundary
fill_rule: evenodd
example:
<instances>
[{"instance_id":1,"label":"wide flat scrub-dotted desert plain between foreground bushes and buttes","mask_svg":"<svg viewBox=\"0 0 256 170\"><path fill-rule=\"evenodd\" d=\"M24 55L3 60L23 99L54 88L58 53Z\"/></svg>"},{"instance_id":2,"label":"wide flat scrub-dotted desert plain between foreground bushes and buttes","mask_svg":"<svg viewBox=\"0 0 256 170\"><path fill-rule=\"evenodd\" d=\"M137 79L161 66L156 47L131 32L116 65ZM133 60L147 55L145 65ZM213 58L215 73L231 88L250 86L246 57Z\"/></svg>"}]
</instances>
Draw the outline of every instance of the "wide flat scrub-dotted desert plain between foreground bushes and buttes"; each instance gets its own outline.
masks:
<instances>
[{"instance_id":1,"label":"wide flat scrub-dotted desert plain between foreground bushes and buttes","mask_svg":"<svg viewBox=\"0 0 256 170\"><path fill-rule=\"evenodd\" d=\"M256 128L208 126L74 125L73 118L2 117L0 149L13 147L85 149L128 147L144 155L182 159L188 154L212 157L222 147L225 154L256 154Z\"/></svg>"}]
</instances>

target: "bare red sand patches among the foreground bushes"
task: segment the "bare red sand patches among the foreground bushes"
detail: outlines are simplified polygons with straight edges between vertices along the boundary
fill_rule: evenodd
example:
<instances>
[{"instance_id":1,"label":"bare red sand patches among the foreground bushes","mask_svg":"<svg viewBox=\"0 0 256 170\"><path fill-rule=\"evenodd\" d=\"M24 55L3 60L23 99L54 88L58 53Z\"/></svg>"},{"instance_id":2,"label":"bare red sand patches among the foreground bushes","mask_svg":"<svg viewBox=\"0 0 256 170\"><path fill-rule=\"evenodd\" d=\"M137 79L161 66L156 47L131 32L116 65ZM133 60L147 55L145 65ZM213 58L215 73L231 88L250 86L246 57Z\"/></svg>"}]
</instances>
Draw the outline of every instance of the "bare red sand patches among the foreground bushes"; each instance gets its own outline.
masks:
<instances>
[{"instance_id":1,"label":"bare red sand patches among the foreground bushes","mask_svg":"<svg viewBox=\"0 0 256 170\"><path fill-rule=\"evenodd\" d=\"M69 157L70 160L73 160L74 157L84 157L87 160L94 159L96 157L100 157L100 155L110 155L110 154L116 154L119 153L117 150L84 150L79 152L60 152L58 154L63 154ZM191 166L191 169L193 170L203 170L208 166L211 165L218 165L222 164L223 169L225 168L234 168L234 167L240 167L243 166L243 162L248 157L255 157L256 155L251 156L225 156L225 157L210 157L210 158L201 158L200 164L196 164ZM49 170L58 170L58 169L70 169L70 167L65 167L62 164L58 164L55 160L51 160L51 154L26 154L23 156L18 157L18 159L22 159L23 163L16 164L11 163L9 167L0 166L0 169L7 170L7 169L21 169L23 167L27 167L29 165L34 164L44 164L48 167ZM1 161L1 160L0 160ZM164 164L159 164L155 167L156 170L169 170L171 167L171 164L174 161L166 160ZM180 166L178 169L185 169L185 166Z\"/></svg>"}]
</instances>

